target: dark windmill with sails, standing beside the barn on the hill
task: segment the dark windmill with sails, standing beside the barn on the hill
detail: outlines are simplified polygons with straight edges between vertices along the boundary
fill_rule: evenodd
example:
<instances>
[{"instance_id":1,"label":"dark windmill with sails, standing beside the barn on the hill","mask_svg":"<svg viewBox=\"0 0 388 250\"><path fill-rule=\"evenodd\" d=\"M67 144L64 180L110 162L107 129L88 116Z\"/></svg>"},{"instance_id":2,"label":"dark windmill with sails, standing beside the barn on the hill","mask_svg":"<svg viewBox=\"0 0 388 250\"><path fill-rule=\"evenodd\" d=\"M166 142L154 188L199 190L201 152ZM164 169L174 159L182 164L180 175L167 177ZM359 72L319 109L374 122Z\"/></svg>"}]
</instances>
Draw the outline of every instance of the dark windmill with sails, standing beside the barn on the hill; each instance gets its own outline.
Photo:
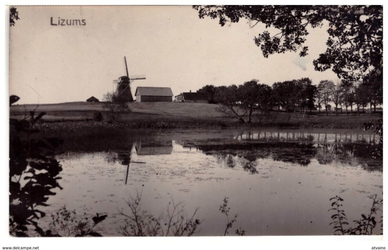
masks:
<instances>
[{"instance_id":1,"label":"dark windmill with sails, standing beside the barn on the hill","mask_svg":"<svg viewBox=\"0 0 388 250\"><path fill-rule=\"evenodd\" d=\"M130 84L133 80L145 79L145 76L144 75L129 76L128 67L126 66L126 57L124 57L124 60L125 60L126 76L120 76L117 80L113 80L113 83L117 84L115 95L119 101L133 102Z\"/></svg>"}]
</instances>

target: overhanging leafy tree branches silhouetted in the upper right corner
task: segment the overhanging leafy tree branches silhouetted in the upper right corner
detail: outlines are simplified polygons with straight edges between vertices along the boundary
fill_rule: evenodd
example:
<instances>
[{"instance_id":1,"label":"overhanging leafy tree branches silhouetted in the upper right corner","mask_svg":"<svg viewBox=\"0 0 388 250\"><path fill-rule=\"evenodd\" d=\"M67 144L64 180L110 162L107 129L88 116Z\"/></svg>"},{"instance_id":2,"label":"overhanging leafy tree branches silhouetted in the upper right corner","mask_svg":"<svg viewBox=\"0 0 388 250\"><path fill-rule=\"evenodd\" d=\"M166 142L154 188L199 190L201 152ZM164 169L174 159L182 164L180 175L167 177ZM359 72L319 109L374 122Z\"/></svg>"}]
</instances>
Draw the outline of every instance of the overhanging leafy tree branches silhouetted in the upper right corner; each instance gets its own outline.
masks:
<instances>
[{"instance_id":1,"label":"overhanging leafy tree branches silhouetted in the upper right corner","mask_svg":"<svg viewBox=\"0 0 388 250\"><path fill-rule=\"evenodd\" d=\"M264 57L274 53L299 51L308 54L303 46L307 27L320 28L328 22L326 52L313 61L315 70L332 68L345 81L380 81L383 76L383 7L375 5L206 5L193 6L199 18L227 22L247 19L249 25L275 28L255 37ZM382 81L380 81L382 83Z\"/></svg>"}]
</instances>

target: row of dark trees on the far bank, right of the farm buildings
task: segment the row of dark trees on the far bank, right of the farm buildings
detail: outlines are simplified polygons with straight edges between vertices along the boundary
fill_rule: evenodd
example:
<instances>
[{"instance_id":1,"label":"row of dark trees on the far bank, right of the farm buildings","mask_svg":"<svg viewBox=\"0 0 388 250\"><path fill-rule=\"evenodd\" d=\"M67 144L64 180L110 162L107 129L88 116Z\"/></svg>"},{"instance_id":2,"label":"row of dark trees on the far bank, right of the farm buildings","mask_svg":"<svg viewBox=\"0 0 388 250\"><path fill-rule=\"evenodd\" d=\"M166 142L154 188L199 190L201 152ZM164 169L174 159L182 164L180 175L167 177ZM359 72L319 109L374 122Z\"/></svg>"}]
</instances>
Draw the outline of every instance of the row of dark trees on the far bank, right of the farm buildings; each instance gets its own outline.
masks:
<instances>
[{"instance_id":1,"label":"row of dark trees on the far bank, right of the farm buildings","mask_svg":"<svg viewBox=\"0 0 388 250\"><path fill-rule=\"evenodd\" d=\"M199 89L200 93L209 93L210 102L221 105L220 111L230 113L237 117L241 122L252 120L252 114L260 110L261 114L266 114L273 108L280 110L284 107L287 112L290 109L318 109L319 112L324 106L330 109L330 102L334 103L337 115L337 108L345 107L346 115L348 107L353 111L353 105L357 107L357 114L362 107L368 103L376 105L383 103L382 83L339 83L323 80L316 86L312 84L311 79L301 78L284 82L277 82L272 87L267 84L259 83L259 80L253 79L240 85L232 84L230 86L206 85ZM323 105L323 106L322 106Z\"/></svg>"}]
</instances>

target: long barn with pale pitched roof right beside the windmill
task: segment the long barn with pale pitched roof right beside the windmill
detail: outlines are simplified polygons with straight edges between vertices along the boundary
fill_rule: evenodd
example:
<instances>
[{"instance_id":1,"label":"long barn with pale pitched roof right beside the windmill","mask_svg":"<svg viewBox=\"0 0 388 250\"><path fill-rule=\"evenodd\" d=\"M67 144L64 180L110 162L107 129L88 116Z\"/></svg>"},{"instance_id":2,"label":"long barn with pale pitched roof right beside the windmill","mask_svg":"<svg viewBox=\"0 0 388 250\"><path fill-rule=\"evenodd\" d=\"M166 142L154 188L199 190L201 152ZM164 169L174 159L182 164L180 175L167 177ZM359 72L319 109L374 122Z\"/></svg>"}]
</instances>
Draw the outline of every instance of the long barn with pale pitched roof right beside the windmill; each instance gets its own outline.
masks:
<instances>
[{"instance_id":1,"label":"long barn with pale pitched roof right beside the windmill","mask_svg":"<svg viewBox=\"0 0 388 250\"><path fill-rule=\"evenodd\" d=\"M136 102L172 102L171 88L165 87L137 87Z\"/></svg>"}]
</instances>

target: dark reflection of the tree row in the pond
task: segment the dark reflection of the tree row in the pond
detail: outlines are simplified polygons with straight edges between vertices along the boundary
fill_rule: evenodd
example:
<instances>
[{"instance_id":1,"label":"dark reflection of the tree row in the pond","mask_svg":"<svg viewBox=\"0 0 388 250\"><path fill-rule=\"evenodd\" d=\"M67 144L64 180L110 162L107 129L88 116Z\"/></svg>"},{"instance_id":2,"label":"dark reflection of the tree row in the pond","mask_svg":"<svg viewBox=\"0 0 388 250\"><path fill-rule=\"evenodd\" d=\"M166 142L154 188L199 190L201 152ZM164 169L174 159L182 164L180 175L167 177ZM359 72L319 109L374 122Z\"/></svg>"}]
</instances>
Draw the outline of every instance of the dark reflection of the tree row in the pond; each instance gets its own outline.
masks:
<instances>
[{"instance_id":1,"label":"dark reflection of the tree row in the pond","mask_svg":"<svg viewBox=\"0 0 388 250\"><path fill-rule=\"evenodd\" d=\"M308 166L313 159L319 164L342 164L348 166L360 165L369 171L382 171L381 159L373 159L371 152L382 145L369 143L284 143L284 142L251 142L248 144L201 145L200 150L207 155L214 155L218 161L223 159L227 167L236 167L236 157L243 159L240 164L244 169L254 169L257 159L272 159L275 161ZM255 171L251 171L254 173Z\"/></svg>"}]
</instances>

